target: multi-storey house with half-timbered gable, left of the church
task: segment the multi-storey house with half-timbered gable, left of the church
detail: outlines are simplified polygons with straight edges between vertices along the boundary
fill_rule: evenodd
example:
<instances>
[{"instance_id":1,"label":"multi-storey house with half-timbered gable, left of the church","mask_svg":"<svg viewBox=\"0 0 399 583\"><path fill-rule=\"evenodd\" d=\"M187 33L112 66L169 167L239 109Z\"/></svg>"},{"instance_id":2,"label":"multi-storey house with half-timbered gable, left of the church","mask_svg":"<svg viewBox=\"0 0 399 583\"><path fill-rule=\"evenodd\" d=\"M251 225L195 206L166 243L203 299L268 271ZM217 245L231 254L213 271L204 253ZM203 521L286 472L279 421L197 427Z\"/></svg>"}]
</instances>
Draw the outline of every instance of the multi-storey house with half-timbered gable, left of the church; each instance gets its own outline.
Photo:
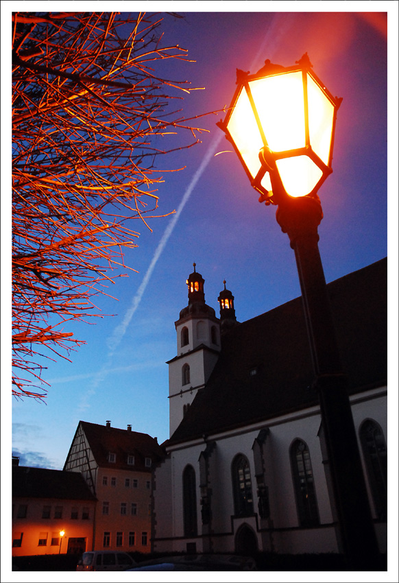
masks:
<instances>
[{"instance_id":1,"label":"multi-storey house with half-timbered gable, left of the church","mask_svg":"<svg viewBox=\"0 0 399 583\"><path fill-rule=\"evenodd\" d=\"M82 473L97 498L91 549L149 552L152 468L162 457L147 433L80 421L64 470Z\"/></svg>"}]
</instances>

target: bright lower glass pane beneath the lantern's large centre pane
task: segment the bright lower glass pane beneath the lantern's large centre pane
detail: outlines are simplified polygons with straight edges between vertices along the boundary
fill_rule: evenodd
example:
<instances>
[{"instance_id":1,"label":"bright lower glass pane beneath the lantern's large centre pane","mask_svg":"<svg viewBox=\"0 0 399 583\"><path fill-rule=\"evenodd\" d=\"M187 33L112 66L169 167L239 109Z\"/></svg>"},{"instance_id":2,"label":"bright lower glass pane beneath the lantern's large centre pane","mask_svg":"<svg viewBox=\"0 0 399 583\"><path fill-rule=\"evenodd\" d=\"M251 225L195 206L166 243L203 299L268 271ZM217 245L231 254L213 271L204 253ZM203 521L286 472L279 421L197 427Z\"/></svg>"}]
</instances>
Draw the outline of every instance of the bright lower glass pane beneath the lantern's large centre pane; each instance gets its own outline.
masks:
<instances>
[{"instance_id":1,"label":"bright lower glass pane beneath the lantern's large centre pane","mask_svg":"<svg viewBox=\"0 0 399 583\"><path fill-rule=\"evenodd\" d=\"M295 156L276 160L282 185L290 196L306 196L317 185L323 172L309 156Z\"/></svg>"}]
</instances>

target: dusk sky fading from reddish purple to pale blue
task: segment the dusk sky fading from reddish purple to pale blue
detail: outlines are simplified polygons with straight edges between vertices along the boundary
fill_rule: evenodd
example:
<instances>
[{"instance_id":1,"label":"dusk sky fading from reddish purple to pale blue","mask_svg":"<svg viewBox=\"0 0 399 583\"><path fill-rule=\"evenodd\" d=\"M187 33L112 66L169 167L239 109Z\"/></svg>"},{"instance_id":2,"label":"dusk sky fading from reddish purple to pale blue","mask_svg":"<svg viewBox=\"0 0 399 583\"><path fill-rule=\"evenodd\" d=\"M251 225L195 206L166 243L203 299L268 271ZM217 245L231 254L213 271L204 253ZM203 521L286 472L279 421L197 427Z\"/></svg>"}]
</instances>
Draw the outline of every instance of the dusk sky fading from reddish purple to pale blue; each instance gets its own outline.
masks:
<instances>
[{"instance_id":1,"label":"dusk sky fading from reddish purple to pale blue","mask_svg":"<svg viewBox=\"0 0 399 583\"><path fill-rule=\"evenodd\" d=\"M11 7L15 4L10 3ZM40 10L40 2L19 4L19 10ZM147 10L153 5L125 2L123 10L139 10L141 4ZM64 2L62 10L75 10L76 5L79 3ZM103 2L86 2L84 10L90 5L93 10L104 9ZM118 3L112 3L112 10L114 5ZM386 257L390 200L386 12L307 12L309 6L319 10L364 6L349 1L177 1L154 6L184 16L175 19L165 14L162 44L188 49L189 58L195 61L167 62L165 74L204 87L180 102L185 117L228 106L237 68L255 73L267 58L289 66L307 51L318 77L333 95L343 97L337 115L333 174L319 191L324 211L319 249L326 281ZM211 12L228 7L259 12ZM187 8L204 12L186 12ZM282 8L286 12L270 11ZM301 8L303 12L290 12ZM396 23L392 31L396 36L396 2L368 2L367 9L393 10L389 21ZM389 95L397 96L396 40L394 91ZM125 263L138 273L119 278L109 289L117 300L106 296L96 300L101 313L114 316L70 326L75 337L86 344L71 354L72 362L48 361L43 372L51 385L47 404L12 399L12 454L21 457L21 465L62 469L80 420L103 425L110 420L112 427L122 429L130 424L134 431L156 436L159 443L169 437L165 363L176 356L174 322L188 302L185 282L193 262L205 280L206 303L217 315L223 279L234 294L240 322L300 296L294 253L276 222L276 207L258 202L237 156L225 152L232 148L216 126L223 117L223 112L202 117L198 125L209 130L200 135L202 143L158 160L165 178L158 189L160 214L177 212L152 219L152 233L139 222L131 225L141 235L138 248L126 252ZM394 117L395 128L397 121ZM393 137L392 155L397 156ZM396 173L397 158L392 160ZM185 169L168 172L179 167ZM397 198L395 184L389 181ZM396 198L389 209L395 217ZM396 265L396 223L390 236L389 257ZM9 411L9 406L3 407L2 416L9 417Z\"/></svg>"}]
</instances>

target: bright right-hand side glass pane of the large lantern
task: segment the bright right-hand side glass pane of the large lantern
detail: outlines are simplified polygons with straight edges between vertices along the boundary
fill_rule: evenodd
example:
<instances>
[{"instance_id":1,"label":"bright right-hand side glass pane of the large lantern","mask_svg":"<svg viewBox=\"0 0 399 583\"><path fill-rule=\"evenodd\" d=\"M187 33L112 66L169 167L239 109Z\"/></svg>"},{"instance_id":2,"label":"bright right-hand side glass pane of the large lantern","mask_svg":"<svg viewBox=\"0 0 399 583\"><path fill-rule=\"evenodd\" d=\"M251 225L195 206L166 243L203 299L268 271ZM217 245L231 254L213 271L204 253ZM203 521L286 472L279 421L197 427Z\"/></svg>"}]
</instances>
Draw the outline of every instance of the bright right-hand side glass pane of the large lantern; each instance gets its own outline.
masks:
<instances>
[{"instance_id":1,"label":"bright right-hand side glass pane of the large lantern","mask_svg":"<svg viewBox=\"0 0 399 583\"><path fill-rule=\"evenodd\" d=\"M309 137L313 152L328 165L333 134L334 106L308 74Z\"/></svg>"}]
</instances>

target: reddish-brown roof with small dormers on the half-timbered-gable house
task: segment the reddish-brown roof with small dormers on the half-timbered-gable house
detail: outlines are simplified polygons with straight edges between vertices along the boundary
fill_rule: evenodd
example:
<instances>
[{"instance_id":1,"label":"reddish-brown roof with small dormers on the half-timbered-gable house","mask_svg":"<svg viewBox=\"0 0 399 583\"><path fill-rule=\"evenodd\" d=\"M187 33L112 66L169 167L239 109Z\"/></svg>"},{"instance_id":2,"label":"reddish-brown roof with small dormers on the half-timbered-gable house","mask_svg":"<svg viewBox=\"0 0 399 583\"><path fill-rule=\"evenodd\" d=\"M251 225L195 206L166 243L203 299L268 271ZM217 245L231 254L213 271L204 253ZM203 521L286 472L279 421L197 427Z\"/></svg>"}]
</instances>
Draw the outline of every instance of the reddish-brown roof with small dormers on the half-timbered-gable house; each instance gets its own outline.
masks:
<instances>
[{"instance_id":1,"label":"reddish-brown roof with small dormers on the half-timbered-gable house","mask_svg":"<svg viewBox=\"0 0 399 583\"><path fill-rule=\"evenodd\" d=\"M145 467L145 457L158 462L162 457L162 448L147 433L106 427L97 423L80 421L95 461L102 467L119 468L134 471L150 471ZM116 462L108 462L108 453L116 454ZM134 466L128 464L128 455L134 455Z\"/></svg>"}]
</instances>

